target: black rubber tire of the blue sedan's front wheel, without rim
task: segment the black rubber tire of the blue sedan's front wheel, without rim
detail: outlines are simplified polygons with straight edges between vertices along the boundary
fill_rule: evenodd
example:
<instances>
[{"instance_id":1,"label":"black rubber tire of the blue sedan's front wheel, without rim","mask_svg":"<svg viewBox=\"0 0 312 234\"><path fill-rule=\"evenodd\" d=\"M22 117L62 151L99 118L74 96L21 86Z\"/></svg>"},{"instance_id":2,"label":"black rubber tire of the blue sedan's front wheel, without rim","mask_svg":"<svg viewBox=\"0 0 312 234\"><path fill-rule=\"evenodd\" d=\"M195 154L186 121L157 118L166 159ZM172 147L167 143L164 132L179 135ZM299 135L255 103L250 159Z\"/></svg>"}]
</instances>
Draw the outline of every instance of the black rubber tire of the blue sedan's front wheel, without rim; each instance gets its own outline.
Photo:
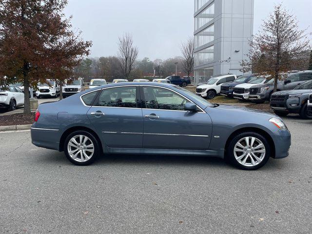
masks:
<instances>
[{"instance_id":1,"label":"black rubber tire of the blue sedan's front wheel, without rim","mask_svg":"<svg viewBox=\"0 0 312 234\"><path fill-rule=\"evenodd\" d=\"M238 142L238 140L240 140L241 138L244 138L244 137L256 137L259 140L261 140L265 146L266 154L264 156L264 159L259 164L257 164L256 166L247 167L247 166L240 164L235 159L234 152L233 152L234 146ZM243 170L257 170L257 169L263 167L268 162L268 160L271 156L271 146L270 146L268 140L265 137L263 137L262 135L255 133L255 132L240 133L237 136L233 137L226 150L227 150L226 160L228 162L230 162L232 165L234 165L235 167L238 167L238 168L243 169Z\"/></svg>"}]
</instances>

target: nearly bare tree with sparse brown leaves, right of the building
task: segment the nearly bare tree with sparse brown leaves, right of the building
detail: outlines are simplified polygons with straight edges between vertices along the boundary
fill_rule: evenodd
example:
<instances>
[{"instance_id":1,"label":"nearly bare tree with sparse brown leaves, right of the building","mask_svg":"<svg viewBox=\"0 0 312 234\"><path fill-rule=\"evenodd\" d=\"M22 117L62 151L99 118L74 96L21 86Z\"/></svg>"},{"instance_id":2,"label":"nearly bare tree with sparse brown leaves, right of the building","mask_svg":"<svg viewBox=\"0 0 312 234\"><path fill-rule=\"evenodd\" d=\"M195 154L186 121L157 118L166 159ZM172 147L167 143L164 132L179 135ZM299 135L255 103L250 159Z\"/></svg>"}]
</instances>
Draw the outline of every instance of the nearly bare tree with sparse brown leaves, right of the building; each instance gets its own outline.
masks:
<instances>
[{"instance_id":1,"label":"nearly bare tree with sparse brown leaves, right of the building","mask_svg":"<svg viewBox=\"0 0 312 234\"><path fill-rule=\"evenodd\" d=\"M243 72L253 71L274 78L274 91L281 73L302 63L302 54L310 48L306 30L298 28L298 21L289 11L276 5L261 30L250 42L249 60L242 61Z\"/></svg>"}]
</instances>

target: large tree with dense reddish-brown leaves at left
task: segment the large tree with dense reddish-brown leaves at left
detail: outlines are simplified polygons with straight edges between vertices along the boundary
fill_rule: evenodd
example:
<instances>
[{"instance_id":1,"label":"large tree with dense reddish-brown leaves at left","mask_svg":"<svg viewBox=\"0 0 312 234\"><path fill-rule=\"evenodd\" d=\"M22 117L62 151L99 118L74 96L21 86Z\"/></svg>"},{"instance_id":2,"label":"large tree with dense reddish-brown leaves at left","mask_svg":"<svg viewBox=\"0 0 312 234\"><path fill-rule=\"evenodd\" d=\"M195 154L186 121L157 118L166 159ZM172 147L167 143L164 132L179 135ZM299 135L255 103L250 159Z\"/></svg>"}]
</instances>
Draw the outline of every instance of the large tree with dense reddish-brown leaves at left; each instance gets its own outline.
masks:
<instances>
[{"instance_id":1,"label":"large tree with dense reddish-brown leaves at left","mask_svg":"<svg viewBox=\"0 0 312 234\"><path fill-rule=\"evenodd\" d=\"M24 114L29 86L64 80L89 54L90 41L71 30L62 10L67 0L0 0L0 85L23 82ZM5 77L5 78L4 78Z\"/></svg>"}]
</instances>

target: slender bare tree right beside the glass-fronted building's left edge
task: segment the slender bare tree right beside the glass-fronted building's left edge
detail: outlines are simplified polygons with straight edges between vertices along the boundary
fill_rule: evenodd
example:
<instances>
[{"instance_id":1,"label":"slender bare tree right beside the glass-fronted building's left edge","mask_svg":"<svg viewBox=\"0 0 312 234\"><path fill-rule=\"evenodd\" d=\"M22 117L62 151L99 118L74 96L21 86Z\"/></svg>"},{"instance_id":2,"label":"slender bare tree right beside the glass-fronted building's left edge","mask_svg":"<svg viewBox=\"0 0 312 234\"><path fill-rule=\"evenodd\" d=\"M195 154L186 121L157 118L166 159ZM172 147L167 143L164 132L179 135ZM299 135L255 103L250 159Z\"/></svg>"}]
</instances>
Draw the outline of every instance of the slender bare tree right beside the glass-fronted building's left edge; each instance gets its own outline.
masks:
<instances>
[{"instance_id":1,"label":"slender bare tree right beside the glass-fronted building's left edge","mask_svg":"<svg viewBox=\"0 0 312 234\"><path fill-rule=\"evenodd\" d=\"M181 52L183 55L182 59L182 67L183 71L190 77L190 74L194 70L194 39L189 38L187 41L182 42L181 44Z\"/></svg>"}]
</instances>

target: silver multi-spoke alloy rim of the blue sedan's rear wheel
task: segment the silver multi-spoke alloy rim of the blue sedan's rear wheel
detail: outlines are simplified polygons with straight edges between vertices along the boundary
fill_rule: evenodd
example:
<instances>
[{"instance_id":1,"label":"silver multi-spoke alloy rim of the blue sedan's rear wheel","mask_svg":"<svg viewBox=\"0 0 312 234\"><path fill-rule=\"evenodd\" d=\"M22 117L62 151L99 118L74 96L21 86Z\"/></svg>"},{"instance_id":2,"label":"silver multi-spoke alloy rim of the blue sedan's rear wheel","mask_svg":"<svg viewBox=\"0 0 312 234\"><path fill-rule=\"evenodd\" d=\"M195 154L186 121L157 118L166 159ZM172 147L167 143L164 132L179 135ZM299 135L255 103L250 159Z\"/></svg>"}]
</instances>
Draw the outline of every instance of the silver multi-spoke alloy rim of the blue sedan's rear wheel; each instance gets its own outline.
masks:
<instances>
[{"instance_id":1,"label":"silver multi-spoke alloy rim of the blue sedan's rear wheel","mask_svg":"<svg viewBox=\"0 0 312 234\"><path fill-rule=\"evenodd\" d=\"M89 137L77 135L68 141L67 152L73 160L86 162L94 154L94 144Z\"/></svg>"}]
</instances>

